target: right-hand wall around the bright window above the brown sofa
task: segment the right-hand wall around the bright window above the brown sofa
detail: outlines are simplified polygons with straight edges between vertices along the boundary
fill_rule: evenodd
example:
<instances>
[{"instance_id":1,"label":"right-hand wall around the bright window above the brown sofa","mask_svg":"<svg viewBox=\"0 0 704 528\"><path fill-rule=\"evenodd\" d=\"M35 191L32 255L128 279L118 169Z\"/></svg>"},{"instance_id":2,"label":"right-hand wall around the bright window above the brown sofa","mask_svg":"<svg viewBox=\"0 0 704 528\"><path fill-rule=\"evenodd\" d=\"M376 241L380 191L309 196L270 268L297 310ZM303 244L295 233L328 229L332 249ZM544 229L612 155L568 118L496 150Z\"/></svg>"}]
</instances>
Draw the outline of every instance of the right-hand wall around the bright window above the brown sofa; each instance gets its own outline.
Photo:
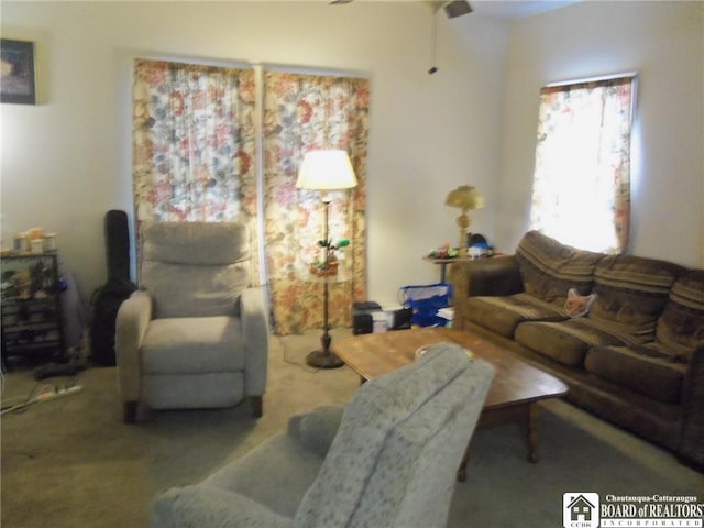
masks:
<instances>
[{"instance_id":1,"label":"right-hand wall around the bright window above the brown sofa","mask_svg":"<svg viewBox=\"0 0 704 528\"><path fill-rule=\"evenodd\" d=\"M507 63L496 238L528 227L538 91L637 72L631 244L637 255L704 266L704 2L585 2L514 24ZM584 207L588 223L588 204Z\"/></svg>"}]
</instances>

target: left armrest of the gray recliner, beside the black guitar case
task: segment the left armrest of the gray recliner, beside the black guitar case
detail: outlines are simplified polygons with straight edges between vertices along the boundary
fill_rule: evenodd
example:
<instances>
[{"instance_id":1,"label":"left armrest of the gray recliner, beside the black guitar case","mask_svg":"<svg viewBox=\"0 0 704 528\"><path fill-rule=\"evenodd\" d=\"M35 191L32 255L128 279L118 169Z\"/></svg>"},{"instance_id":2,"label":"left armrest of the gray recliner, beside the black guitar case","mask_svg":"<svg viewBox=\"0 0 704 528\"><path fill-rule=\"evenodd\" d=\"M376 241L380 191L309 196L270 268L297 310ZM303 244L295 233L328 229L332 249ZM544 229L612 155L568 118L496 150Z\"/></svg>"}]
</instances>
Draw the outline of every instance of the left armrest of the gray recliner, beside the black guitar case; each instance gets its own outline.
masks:
<instances>
[{"instance_id":1,"label":"left armrest of the gray recliner, beside the black guitar case","mask_svg":"<svg viewBox=\"0 0 704 528\"><path fill-rule=\"evenodd\" d=\"M152 298L134 292L120 305L116 320L116 358L122 402L140 397L140 348L152 320Z\"/></svg>"}]
</instances>

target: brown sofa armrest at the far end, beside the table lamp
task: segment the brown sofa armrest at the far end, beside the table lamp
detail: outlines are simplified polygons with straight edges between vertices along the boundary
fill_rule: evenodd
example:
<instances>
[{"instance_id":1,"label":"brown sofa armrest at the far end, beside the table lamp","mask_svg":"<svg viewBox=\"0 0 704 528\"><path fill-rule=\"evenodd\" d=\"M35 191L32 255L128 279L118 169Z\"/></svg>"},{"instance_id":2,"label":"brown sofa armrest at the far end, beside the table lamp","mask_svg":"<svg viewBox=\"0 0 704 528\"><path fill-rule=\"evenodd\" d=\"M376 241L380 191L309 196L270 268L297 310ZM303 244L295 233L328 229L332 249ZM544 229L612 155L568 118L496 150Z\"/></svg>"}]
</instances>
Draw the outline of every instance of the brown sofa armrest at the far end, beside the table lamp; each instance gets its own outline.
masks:
<instances>
[{"instance_id":1,"label":"brown sofa armrest at the far end, beside the table lamp","mask_svg":"<svg viewBox=\"0 0 704 528\"><path fill-rule=\"evenodd\" d=\"M505 296L524 290L515 255L453 262L449 280L453 296L460 299L479 295Z\"/></svg>"}]
</instances>

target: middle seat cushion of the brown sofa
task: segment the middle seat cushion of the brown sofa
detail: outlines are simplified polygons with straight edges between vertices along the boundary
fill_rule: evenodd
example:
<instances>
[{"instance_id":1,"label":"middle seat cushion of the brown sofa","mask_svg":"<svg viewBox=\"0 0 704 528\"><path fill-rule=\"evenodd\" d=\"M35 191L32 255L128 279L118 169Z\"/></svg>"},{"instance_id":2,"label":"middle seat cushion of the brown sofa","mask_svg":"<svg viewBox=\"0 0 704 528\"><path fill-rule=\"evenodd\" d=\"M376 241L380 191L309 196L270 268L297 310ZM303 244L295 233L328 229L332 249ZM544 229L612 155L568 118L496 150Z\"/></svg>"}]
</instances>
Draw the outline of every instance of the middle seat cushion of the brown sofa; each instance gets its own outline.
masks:
<instances>
[{"instance_id":1,"label":"middle seat cushion of the brown sofa","mask_svg":"<svg viewBox=\"0 0 704 528\"><path fill-rule=\"evenodd\" d=\"M521 322L516 341L568 366L583 366L593 346L623 345L628 334L613 324L597 324L587 318L560 322Z\"/></svg>"}]
</instances>

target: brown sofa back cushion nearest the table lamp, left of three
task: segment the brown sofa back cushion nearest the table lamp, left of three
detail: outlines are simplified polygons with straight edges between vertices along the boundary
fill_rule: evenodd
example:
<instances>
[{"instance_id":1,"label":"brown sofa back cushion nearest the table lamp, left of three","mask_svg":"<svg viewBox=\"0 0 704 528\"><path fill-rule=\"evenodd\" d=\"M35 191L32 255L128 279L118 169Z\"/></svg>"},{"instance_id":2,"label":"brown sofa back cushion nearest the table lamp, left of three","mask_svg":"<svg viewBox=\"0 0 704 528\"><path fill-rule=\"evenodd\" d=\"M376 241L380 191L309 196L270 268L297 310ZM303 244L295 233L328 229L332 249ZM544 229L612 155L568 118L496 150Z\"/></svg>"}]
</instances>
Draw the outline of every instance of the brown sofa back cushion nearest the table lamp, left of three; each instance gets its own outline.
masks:
<instances>
[{"instance_id":1,"label":"brown sofa back cushion nearest the table lamp, left of three","mask_svg":"<svg viewBox=\"0 0 704 528\"><path fill-rule=\"evenodd\" d=\"M538 231L529 231L516 250L518 270L526 293L563 305L570 288L580 295L591 292L602 253L564 245Z\"/></svg>"}]
</instances>

